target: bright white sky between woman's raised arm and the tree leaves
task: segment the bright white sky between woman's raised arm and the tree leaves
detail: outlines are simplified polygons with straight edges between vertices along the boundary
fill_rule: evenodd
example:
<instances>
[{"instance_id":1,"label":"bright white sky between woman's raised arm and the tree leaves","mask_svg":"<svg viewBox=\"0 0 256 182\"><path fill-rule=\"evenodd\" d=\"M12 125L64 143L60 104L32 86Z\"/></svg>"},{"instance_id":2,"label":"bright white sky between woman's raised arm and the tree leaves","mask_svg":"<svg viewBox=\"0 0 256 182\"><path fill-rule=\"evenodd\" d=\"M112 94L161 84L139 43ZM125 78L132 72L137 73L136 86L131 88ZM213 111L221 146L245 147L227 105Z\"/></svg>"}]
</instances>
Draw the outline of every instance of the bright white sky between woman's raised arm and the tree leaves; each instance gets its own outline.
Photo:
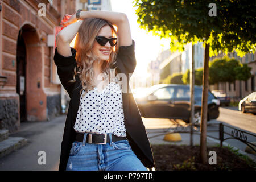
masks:
<instances>
[{"instance_id":1,"label":"bright white sky between woman's raised arm and the tree leaves","mask_svg":"<svg viewBox=\"0 0 256 182\"><path fill-rule=\"evenodd\" d=\"M147 33L144 29L139 28L137 15L133 0L111 0L112 11L125 13L129 19L131 28L131 37L135 41L135 56L137 66L134 74L147 77L147 65L150 61L155 60L158 53L170 48L170 42L167 39L161 39Z\"/></svg>"}]
</instances>

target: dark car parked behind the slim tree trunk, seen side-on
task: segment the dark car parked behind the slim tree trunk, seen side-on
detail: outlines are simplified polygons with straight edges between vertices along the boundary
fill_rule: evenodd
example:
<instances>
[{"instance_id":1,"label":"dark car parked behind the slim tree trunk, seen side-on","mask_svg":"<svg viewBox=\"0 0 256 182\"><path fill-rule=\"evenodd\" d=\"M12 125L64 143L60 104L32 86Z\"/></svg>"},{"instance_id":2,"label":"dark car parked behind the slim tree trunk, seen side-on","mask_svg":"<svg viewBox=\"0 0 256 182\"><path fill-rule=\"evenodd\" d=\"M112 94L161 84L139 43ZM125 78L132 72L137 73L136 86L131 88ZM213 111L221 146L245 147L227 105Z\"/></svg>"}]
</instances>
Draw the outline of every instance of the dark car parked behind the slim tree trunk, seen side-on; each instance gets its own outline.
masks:
<instances>
[{"instance_id":1,"label":"dark car parked behind the slim tree trunk, seen side-on","mask_svg":"<svg viewBox=\"0 0 256 182\"><path fill-rule=\"evenodd\" d=\"M189 85L159 84L142 90L143 95L134 94L138 108L144 118L182 119L189 122ZM202 87L195 86L195 123L200 123ZM218 118L220 100L208 93L208 121Z\"/></svg>"}]
</instances>

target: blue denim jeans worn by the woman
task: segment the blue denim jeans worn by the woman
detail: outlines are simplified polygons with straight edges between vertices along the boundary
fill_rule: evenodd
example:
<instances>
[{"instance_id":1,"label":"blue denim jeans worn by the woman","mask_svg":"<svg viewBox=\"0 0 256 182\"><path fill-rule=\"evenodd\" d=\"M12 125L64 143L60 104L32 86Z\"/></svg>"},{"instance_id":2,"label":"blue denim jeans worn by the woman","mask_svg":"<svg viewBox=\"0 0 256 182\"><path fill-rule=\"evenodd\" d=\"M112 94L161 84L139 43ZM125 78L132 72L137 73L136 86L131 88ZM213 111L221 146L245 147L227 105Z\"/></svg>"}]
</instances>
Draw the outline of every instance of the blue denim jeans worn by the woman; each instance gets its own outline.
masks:
<instances>
[{"instance_id":1,"label":"blue denim jeans worn by the woman","mask_svg":"<svg viewBox=\"0 0 256 182\"><path fill-rule=\"evenodd\" d=\"M147 171L131 150L127 140L106 144L74 141L69 153L67 171Z\"/></svg>"}]
</instances>

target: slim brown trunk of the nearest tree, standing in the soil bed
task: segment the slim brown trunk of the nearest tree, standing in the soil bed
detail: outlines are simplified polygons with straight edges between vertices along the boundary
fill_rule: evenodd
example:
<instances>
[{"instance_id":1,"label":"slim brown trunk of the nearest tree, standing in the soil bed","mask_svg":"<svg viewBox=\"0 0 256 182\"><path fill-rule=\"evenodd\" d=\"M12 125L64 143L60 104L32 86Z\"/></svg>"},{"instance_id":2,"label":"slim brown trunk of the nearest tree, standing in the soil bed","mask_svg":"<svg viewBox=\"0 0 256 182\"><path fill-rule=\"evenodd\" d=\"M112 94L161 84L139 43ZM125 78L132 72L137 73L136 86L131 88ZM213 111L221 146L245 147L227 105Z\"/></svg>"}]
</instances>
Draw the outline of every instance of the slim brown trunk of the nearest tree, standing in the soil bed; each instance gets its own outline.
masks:
<instances>
[{"instance_id":1,"label":"slim brown trunk of the nearest tree, standing in the soil bed","mask_svg":"<svg viewBox=\"0 0 256 182\"><path fill-rule=\"evenodd\" d=\"M201 162L207 164L207 110L208 110L208 87L209 87L209 44L205 45L204 73L203 73L203 97L201 104L201 135L200 135L200 155Z\"/></svg>"}]
</instances>

